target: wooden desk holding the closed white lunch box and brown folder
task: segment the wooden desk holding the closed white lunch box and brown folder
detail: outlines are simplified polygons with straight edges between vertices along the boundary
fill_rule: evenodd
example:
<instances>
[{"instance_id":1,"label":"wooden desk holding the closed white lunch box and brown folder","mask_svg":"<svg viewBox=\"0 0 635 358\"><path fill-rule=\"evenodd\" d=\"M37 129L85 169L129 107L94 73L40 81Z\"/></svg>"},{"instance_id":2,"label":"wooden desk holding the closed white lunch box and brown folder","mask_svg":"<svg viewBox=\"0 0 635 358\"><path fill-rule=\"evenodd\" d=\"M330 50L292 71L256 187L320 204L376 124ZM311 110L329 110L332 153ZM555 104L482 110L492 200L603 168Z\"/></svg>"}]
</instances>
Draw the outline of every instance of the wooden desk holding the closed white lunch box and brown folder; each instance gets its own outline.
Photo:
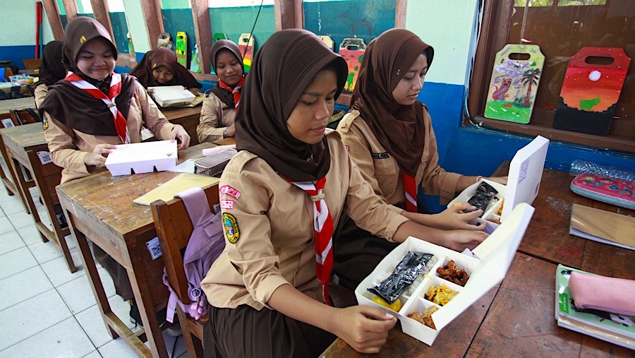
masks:
<instances>
[{"instance_id":1,"label":"wooden desk holding the closed white lunch box and brown folder","mask_svg":"<svg viewBox=\"0 0 635 358\"><path fill-rule=\"evenodd\" d=\"M202 149L212 147L212 143L202 143L179 151L179 161L202 157ZM149 205L133 200L178 174L154 172L112 177L110 172L102 172L57 187L110 335L123 338L143 357L168 357L155 312L166 306L169 291L162 282L163 259L153 261L146 246L147 241L157 236L152 210ZM128 270L144 329L133 332L111 310L87 239ZM123 319L127 321L128 317ZM146 339L150 348L143 344Z\"/></svg>"}]
</instances>

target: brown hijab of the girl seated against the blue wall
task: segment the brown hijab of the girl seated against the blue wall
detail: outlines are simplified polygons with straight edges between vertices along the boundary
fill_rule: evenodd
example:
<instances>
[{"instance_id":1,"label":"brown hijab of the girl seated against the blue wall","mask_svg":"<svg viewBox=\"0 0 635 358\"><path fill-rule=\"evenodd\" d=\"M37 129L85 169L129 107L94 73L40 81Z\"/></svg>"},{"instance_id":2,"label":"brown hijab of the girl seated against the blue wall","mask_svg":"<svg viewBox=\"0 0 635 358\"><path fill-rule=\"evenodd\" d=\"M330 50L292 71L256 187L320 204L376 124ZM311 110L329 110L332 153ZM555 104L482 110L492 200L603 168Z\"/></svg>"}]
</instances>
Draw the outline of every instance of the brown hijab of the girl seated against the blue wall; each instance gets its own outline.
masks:
<instances>
[{"instance_id":1,"label":"brown hijab of the girl seated against the blue wall","mask_svg":"<svg viewBox=\"0 0 635 358\"><path fill-rule=\"evenodd\" d=\"M382 33L366 47L351 97L351 108L361 112L377 140L411 177L423 155L423 104L399 105L392 91L423 52L430 68L434 50L417 35L401 28Z\"/></svg>"}]
</instances>

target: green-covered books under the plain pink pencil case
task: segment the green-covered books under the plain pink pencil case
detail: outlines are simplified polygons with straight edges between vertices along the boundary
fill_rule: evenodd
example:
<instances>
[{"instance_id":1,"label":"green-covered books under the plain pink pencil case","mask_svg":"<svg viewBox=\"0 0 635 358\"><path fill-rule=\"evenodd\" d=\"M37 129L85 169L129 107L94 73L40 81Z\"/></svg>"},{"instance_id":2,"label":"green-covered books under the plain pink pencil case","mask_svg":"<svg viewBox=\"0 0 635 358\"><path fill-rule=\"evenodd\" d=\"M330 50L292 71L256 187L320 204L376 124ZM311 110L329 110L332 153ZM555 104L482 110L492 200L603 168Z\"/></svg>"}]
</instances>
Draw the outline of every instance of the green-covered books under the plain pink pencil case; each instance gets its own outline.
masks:
<instances>
[{"instance_id":1,"label":"green-covered books under the plain pink pencil case","mask_svg":"<svg viewBox=\"0 0 635 358\"><path fill-rule=\"evenodd\" d=\"M555 318L558 326L635 350L635 317L596 309L578 309L569 290L572 271L587 273L564 265L558 265L556 269Z\"/></svg>"}]
</instances>

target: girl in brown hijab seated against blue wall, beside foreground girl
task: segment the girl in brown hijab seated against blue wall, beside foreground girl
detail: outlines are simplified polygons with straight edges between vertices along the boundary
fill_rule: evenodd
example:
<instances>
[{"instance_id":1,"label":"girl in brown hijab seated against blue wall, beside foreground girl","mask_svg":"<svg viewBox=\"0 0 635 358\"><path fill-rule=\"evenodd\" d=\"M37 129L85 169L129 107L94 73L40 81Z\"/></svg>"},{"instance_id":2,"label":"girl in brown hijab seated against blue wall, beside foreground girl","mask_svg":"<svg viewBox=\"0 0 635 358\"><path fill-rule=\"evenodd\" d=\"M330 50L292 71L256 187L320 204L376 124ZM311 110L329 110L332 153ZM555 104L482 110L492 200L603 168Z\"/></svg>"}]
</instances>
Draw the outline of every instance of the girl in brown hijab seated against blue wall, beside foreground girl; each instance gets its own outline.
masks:
<instances>
[{"instance_id":1,"label":"girl in brown hijab seated against blue wall, beside foreground girl","mask_svg":"<svg viewBox=\"0 0 635 358\"><path fill-rule=\"evenodd\" d=\"M417 212L417 191L440 195L448 203L480 177L448 173L439 164L437 143L428 109L417 100L434 50L405 29L392 29L370 42L351 97L351 111L340 121L342 141L373 191L386 203ZM492 179L492 178L488 178ZM495 179L507 181L507 178ZM437 215L421 215L423 225L468 239L485 225L481 210L464 203ZM423 219L423 220L421 220ZM415 219L413 219L415 220ZM475 222L476 220L476 222ZM478 223L479 225L472 225ZM335 273L340 284L356 287L395 245L343 222L335 244ZM444 245L462 251L464 246Z\"/></svg>"}]
</instances>

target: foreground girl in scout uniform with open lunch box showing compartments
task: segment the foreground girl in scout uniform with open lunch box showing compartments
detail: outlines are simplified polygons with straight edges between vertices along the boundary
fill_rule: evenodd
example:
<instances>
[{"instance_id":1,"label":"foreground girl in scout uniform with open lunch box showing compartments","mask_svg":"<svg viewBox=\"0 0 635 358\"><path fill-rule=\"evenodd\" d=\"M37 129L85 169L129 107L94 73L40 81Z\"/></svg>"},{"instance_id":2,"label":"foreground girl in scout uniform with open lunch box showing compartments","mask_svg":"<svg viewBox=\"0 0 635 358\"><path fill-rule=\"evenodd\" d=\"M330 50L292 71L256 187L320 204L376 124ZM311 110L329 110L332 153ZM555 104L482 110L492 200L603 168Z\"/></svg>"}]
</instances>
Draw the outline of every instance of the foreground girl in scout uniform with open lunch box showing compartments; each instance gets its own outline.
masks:
<instances>
[{"instance_id":1,"label":"foreground girl in scout uniform with open lunch box showing compartments","mask_svg":"<svg viewBox=\"0 0 635 358\"><path fill-rule=\"evenodd\" d=\"M346 75L344 59L306 30L275 32L255 55L239 151L219 183L227 244L202 280L205 357L316 357L336 336L376 353L396 323L375 307L328 305L342 213L389 241L431 231L376 196L339 134L326 133Z\"/></svg>"}]
</instances>

